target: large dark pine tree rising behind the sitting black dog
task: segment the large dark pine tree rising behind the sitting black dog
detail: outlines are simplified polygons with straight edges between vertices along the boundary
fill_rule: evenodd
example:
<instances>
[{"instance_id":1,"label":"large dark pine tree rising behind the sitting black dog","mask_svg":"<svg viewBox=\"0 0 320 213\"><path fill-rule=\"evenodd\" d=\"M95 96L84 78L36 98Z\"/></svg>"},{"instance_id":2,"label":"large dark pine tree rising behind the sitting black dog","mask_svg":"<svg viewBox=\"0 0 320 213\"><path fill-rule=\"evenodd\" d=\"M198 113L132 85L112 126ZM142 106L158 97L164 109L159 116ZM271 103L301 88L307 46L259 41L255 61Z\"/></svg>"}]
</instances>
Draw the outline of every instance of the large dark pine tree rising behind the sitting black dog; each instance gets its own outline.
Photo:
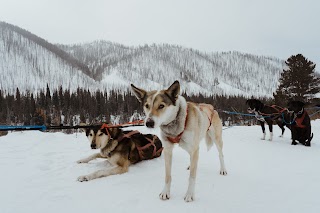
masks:
<instances>
[{"instance_id":1,"label":"large dark pine tree rising behind the sitting black dog","mask_svg":"<svg viewBox=\"0 0 320 213\"><path fill-rule=\"evenodd\" d=\"M308 102L320 92L320 78L315 76L315 67L302 54L293 55L285 62L287 70L283 70L279 86L273 94L278 105L285 105L289 100Z\"/></svg>"}]
</instances>

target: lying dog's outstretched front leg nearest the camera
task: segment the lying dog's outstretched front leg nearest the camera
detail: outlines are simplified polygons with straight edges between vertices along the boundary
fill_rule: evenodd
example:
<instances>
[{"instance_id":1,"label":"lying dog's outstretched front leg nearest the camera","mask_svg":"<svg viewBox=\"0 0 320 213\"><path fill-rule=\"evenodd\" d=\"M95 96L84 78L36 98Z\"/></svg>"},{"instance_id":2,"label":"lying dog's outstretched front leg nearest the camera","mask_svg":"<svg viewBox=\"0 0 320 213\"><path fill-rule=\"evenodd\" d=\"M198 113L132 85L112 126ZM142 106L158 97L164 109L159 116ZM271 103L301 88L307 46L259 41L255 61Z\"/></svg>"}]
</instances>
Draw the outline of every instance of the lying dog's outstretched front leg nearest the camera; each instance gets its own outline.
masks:
<instances>
[{"instance_id":1,"label":"lying dog's outstretched front leg nearest the camera","mask_svg":"<svg viewBox=\"0 0 320 213\"><path fill-rule=\"evenodd\" d=\"M105 169L105 170L99 170L96 172L93 172L89 175L84 175L84 176L80 176L78 177L78 181L83 182L83 181L89 181L89 180L93 180L96 178L101 178L101 177L107 177L110 175L117 175L117 174L122 174L128 171L128 166L115 166L113 168L110 169Z\"/></svg>"}]
</instances>

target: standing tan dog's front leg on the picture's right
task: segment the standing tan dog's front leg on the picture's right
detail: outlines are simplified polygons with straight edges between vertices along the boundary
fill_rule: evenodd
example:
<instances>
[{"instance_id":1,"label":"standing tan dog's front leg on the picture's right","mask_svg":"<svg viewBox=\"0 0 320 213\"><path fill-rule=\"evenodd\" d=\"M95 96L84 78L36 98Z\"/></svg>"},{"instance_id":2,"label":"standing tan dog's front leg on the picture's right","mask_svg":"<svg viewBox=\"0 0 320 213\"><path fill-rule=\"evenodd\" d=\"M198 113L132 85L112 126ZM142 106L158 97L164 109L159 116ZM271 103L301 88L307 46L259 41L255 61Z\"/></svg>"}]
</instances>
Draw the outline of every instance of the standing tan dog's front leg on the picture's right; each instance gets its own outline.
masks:
<instances>
[{"instance_id":1,"label":"standing tan dog's front leg on the picture's right","mask_svg":"<svg viewBox=\"0 0 320 213\"><path fill-rule=\"evenodd\" d=\"M190 176L189 176L189 186L184 200L186 202L191 202L194 200L194 188L197 176L197 167L199 159L199 147L193 153L190 153Z\"/></svg>"}]
</instances>

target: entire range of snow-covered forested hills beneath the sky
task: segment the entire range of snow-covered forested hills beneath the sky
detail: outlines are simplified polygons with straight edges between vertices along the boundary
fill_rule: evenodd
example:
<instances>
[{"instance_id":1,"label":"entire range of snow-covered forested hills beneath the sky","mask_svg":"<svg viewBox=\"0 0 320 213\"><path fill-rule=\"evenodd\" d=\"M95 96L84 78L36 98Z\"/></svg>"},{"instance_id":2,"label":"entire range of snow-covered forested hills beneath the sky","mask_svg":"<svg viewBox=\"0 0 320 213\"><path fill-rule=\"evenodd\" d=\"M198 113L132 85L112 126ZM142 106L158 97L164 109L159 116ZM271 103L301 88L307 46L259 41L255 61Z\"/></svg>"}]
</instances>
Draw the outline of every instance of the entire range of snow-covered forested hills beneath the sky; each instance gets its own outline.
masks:
<instances>
[{"instance_id":1,"label":"entire range of snow-covered forested hills beneath the sky","mask_svg":"<svg viewBox=\"0 0 320 213\"><path fill-rule=\"evenodd\" d=\"M63 89L127 91L130 83L146 89L179 80L187 94L270 97L284 68L274 57L240 52L204 53L161 44L126 47L107 41L54 45L0 22L0 90L37 92L49 85Z\"/></svg>"}]
</instances>

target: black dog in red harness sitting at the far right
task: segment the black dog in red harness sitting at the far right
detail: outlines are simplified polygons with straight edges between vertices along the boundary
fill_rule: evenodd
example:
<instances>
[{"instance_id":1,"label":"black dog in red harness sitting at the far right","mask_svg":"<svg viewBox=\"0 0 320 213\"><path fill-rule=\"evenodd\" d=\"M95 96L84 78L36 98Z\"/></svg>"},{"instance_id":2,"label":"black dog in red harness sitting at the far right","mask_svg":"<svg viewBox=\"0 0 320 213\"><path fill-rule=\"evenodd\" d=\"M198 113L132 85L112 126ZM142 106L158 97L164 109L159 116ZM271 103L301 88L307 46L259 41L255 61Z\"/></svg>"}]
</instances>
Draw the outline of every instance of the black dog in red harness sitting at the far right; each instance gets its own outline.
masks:
<instances>
[{"instance_id":1,"label":"black dog in red harness sitting at the far right","mask_svg":"<svg viewBox=\"0 0 320 213\"><path fill-rule=\"evenodd\" d=\"M304 109L305 103L301 101L290 101L288 111L293 114L294 122L291 124L292 145L299 143L311 146L313 133L311 133L310 117Z\"/></svg>"}]
</instances>

